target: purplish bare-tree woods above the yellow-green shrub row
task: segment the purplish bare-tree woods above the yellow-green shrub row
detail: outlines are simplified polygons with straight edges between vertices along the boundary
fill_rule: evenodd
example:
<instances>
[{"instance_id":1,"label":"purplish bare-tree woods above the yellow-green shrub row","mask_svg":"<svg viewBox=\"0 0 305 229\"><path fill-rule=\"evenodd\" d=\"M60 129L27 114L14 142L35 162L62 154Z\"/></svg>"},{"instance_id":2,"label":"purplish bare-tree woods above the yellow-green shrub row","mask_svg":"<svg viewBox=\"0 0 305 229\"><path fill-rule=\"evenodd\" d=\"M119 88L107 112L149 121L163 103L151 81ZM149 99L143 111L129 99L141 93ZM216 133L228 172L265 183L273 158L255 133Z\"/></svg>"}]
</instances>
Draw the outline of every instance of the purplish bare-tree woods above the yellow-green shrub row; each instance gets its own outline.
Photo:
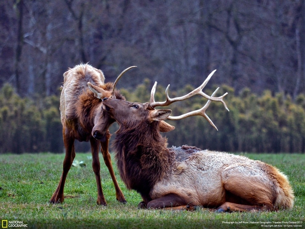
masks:
<instances>
[{"instance_id":1,"label":"purplish bare-tree woods above the yellow-green shrub row","mask_svg":"<svg viewBox=\"0 0 305 229\"><path fill-rule=\"evenodd\" d=\"M14 5L14 7L13 7ZM30 1L0 3L0 84L59 93L62 73L90 62L114 80L122 66L179 88L213 69L238 92L305 88L304 0ZM21 70L22 66L22 70ZM125 81L126 80L126 81ZM37 82L34 84L34 81Z\"/></svg>"}]
</instances>

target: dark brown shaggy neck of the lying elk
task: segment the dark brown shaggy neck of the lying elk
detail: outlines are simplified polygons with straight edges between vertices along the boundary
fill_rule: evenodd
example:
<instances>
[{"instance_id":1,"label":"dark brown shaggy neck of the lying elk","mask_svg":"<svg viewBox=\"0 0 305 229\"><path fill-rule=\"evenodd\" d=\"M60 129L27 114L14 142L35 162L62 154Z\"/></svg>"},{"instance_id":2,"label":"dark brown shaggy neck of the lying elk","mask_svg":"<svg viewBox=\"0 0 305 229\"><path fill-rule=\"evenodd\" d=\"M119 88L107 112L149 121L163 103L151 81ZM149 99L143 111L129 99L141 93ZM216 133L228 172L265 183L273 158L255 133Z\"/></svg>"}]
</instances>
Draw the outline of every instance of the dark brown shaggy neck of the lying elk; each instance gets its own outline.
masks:
<instances>
[{"instance_id":1,"label":"dark brown shaggy neck of the lying elk","mask_svg":"<svg viewBox=\"0 0 305 229\"><path fill-rule=\"evenodd\" d=\"M174 163L174 155L158 125L158 121L153 121L120 128L113 142L122 180L128 189L136 190L147 200L154 184L169 174Z\"/></svg>"}]
</instances>

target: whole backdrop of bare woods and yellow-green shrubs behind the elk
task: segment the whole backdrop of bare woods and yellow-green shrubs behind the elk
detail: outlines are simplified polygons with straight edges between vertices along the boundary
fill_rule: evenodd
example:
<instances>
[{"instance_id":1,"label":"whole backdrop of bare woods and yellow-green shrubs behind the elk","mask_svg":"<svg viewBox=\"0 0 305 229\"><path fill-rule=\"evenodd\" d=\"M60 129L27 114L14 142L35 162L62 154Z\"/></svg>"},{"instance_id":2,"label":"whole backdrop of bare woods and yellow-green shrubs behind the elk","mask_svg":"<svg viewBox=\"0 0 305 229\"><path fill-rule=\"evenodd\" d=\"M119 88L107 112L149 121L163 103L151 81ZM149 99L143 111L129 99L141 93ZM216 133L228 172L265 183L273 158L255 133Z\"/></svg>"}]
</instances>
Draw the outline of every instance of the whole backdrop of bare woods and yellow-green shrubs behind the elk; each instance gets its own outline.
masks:
<instances>
[{"instance_id":1,"label":"whole backdrop of bare woods and yellow-green shrubs behind the elk","mask_svg":"<svg viewBox=\"0 0 305 229\"><path fill-rule=\"evenodd\" d=\"M129 101L198 87L228 92L208 115L169 121L169 146L230 152L305 152L305 1L0 1L0 153L63 152L60 86L89 62ZM201 97L172 104L173 115ZM112 128L112 133L116 126ZM77 151L89 150L79 144Z\"/></svg>"}]
</instances>

